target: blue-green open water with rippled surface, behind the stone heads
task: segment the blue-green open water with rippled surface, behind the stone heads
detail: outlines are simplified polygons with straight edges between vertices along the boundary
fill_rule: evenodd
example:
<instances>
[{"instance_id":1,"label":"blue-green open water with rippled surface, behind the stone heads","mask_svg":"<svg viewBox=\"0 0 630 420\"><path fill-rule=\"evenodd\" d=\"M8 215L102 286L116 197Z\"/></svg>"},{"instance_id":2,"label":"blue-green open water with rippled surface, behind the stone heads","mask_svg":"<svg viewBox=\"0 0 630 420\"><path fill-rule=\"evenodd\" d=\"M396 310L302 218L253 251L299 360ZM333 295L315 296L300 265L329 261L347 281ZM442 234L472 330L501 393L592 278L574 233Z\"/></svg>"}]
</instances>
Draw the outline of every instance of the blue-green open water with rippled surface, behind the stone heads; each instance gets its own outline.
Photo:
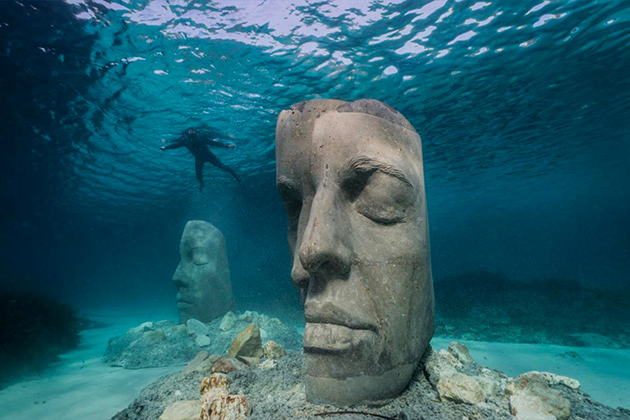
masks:
<instances>
[{"instance_id":1,"label":"blue-green open water with rippled surface, behind the stone heads","mask_svg":"<svg viewBox=\"0 0 630 420\"><path fill-rule=\"evenodd\" d=\"M436 288L628 290L629 43L624 1L4 1L2 289L171 307L200 218L240 305L297 307L277 115L375 98L423 139ZM242 183L207 165L200 193L190 154L159 150L190 126L237 145L216 153Z\"/></svg>"}]
</instances>

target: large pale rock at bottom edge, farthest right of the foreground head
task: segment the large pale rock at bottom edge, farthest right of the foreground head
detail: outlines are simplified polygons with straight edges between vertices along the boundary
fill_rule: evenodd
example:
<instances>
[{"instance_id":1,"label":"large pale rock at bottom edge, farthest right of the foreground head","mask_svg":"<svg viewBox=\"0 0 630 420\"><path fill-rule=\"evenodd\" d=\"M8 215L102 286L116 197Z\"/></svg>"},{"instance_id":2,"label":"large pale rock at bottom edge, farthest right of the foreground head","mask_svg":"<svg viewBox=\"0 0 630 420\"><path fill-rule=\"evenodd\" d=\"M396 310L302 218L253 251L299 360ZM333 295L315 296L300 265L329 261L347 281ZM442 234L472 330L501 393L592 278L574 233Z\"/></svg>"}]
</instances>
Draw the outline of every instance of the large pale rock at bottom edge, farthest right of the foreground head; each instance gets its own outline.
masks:
<instances>
[{"instance_id":1,"label":"large pale rock at bottom edge, farthest right of the foreground head","mask_svg":"<svg viewBox=\"0 0 630 420\"><path fill-rule=\"evenodd\" d=\"M568 420L571 403L545 382L517 377L506 388L516 420Z\"/></svg>"}]
</instances>

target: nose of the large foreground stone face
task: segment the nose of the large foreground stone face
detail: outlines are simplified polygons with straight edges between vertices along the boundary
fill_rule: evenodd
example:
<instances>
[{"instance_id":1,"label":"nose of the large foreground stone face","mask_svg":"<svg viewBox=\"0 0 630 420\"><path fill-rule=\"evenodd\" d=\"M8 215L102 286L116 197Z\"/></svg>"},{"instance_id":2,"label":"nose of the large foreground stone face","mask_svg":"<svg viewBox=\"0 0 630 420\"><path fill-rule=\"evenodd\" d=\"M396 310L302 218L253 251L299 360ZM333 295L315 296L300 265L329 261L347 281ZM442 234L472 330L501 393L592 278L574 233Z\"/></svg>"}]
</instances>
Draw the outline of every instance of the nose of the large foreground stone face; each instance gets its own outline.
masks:
<instances>
[{"instance_id":1,"label":"nose of the large foreground stone face","mask_svg":"<svg viewBox=\"0 0 630 420\"><path fill-rule=\"evenodd\" d=\"M315 195L298 258L294 261L293 271L297 274L294 281L302 283L298 287L304 286L305 274L308 280L311 276L343 278L349 273L352 257L348 235L350 226L342 207L342 201L336 199L332 188L322 189ZM295 267L297 260L299 266ZM299 274L302 274L301 278Z\"/></svg>"}]
</instances>

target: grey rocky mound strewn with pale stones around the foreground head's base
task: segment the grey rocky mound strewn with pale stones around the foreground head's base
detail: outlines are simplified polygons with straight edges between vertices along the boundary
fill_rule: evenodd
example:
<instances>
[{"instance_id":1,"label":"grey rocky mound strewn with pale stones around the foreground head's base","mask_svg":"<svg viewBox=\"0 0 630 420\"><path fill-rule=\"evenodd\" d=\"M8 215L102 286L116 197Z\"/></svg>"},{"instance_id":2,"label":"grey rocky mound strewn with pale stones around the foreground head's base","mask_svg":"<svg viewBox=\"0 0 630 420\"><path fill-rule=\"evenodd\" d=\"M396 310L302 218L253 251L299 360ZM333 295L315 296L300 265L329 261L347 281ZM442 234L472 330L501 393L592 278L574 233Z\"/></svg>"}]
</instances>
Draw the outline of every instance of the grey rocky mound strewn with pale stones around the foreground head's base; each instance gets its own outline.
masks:
<instances>
[{"instance_id":1,"label":"grey rocky mound strewn with pale stones around the foreground head's base","mask_svg":"<svg viewBox=\"0 0 630 420\"><path fill-rule=\"evenodd\" d=\"M220 356L210 356L219 363ZM466 347L451 343L448 350L429 349L407 389L380 407L336 407L310 404L304 393L304 354L292 351L273 363L240 366L228 373L230 393L247 399L253 412L248 419L367 419L370 414L389 419L612 419L630 420L630 410L595 402L572 378L548 372L528 372L516 378L477 364ZM191 365L195 362L191 362ZM208 364L188 366L182 372L147 386L128 408L112 420L156 420L173 406L200 400L200 383L211 375ZM182 403L186 401L186 403ZM177 408L175 405L174 408ZM200 411L201 403L199 403ZM173 412L174 410L170 410ZM194 412L194 409L193 409ZM197 416L162 417L166 420Z\"/></svg>"}]
</instances>

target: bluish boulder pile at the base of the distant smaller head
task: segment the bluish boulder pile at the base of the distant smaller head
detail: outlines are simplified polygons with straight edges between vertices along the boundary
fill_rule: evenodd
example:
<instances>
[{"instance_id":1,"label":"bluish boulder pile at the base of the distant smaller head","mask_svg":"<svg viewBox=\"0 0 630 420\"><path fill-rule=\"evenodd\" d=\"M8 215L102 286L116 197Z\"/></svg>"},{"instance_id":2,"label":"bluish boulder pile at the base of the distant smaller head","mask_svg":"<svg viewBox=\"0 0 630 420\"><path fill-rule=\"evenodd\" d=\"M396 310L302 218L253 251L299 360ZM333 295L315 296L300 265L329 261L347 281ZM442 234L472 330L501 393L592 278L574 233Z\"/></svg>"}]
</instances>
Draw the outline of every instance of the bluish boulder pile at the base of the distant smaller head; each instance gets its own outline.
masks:
<instances>
[{"instance_id":1,"label":"bluish boulder pile at the base of the distant smaller head","mask_svg":"<svg viewBox=\"0 0 630 420\"><path fill-rule=\"evenodd\" d=\"M302 338L297 331L278 318L252 311L239 315L230 311L209 323L196 319L189 319L186 324L145 322L110 339L103 360L126 369L185 364L202 351L225 353L234 338L250 325L258 329L261 342L274 341L289 350L301 348ZM262 348L260 353L262 356Z\"/></svg>"}]
</instances>

